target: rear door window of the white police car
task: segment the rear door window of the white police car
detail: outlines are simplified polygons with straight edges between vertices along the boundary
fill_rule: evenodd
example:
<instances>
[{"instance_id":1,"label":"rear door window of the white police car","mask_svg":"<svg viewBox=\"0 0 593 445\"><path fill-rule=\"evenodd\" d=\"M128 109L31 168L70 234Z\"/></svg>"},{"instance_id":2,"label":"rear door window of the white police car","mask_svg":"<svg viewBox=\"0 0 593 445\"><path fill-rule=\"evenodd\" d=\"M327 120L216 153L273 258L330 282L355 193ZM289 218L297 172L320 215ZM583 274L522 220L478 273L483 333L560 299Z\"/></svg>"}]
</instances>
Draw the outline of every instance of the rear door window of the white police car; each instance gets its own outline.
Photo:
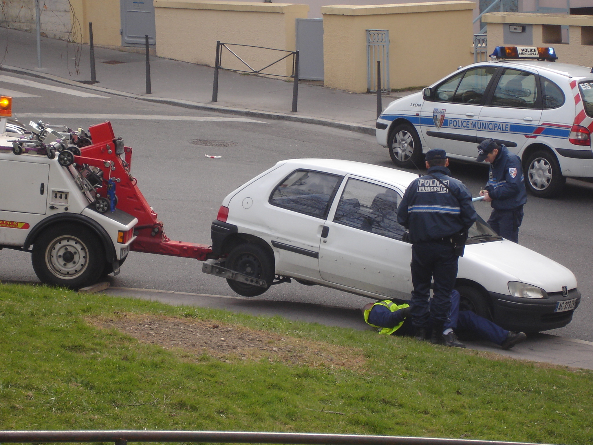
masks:
<instances>
[{"instance_id":1,"label":"rear door window of the white police car","mask_svg":"<svg viewBox=\"0 0 593 445\"><path fill-rule=\"evenodd\" d=\"M537 100L535 75L506 68L492 96L493 106L509 108L534 108Z\"/></svg>"}]
</instances>

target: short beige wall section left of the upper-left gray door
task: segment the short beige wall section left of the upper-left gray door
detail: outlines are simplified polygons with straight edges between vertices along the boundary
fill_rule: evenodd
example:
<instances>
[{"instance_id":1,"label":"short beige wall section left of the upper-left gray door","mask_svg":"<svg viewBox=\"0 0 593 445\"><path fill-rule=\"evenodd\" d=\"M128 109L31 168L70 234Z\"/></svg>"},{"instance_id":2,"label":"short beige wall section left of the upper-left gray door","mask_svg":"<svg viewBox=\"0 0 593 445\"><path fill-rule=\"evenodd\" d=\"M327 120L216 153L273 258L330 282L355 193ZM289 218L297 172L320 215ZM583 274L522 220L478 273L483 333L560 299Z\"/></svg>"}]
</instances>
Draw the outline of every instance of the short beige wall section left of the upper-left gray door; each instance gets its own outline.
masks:
<instances>
[{"instance_id":1,"label":"short beige wall section left of the upper-left gray door","mask_svg":"<svg viewBox=\"0 0 593 445\"><path fill-rule=\"evenodd\" d=\"M88 42L88 23L93 23L93 43L98 46L121 46L119 0L70 0L73 40Z\"/></svg>"}]
</instances>

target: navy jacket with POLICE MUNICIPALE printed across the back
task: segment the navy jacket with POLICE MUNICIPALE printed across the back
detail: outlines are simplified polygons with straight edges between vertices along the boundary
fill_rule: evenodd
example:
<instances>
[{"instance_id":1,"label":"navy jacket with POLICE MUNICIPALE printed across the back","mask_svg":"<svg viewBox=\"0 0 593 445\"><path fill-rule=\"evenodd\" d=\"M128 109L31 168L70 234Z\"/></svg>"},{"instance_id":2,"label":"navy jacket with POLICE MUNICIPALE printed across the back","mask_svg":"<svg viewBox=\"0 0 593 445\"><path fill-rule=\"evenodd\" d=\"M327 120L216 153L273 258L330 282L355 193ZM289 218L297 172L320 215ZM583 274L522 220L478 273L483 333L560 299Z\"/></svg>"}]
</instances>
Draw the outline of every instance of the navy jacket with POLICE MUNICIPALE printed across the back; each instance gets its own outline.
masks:
<instances>
[{"instance_id":1,"label":"navy jacket with POLICE MUNICIPALE printed across the back","mask_svg":"<svg viewBox=\"0 0 593 445\"><path fill-rule=\"evenodd\" d=\"M397 208L397 221L409 229L412 243L451 236L476 221L469 190L449 174L447 167L434 166L407 187Z\"/></svg>"}]
</instances>

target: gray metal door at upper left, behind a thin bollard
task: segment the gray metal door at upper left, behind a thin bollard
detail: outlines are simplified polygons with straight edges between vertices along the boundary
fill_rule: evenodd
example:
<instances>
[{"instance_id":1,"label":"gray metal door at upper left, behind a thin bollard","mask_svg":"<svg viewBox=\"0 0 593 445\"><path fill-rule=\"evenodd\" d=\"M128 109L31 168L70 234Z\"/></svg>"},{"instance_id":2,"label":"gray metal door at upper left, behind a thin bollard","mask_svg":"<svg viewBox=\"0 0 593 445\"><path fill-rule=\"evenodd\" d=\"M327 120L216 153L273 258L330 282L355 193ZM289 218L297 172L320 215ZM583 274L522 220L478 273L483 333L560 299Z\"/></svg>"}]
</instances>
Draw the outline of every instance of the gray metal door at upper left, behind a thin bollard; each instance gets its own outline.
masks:
<instances>
[{"instance_id":1,"label":"gray metal door at upper left, behind a thin bollard","mask_svg":"<svg viewBox=\"0 0 593 445\"><path fill-rule=\"evenodd\" d=\"M154 5L152 0L120 0L120 16L123 46L145 45L148 34L149 45L155 44Z\"/></svg>"}]
</instances>

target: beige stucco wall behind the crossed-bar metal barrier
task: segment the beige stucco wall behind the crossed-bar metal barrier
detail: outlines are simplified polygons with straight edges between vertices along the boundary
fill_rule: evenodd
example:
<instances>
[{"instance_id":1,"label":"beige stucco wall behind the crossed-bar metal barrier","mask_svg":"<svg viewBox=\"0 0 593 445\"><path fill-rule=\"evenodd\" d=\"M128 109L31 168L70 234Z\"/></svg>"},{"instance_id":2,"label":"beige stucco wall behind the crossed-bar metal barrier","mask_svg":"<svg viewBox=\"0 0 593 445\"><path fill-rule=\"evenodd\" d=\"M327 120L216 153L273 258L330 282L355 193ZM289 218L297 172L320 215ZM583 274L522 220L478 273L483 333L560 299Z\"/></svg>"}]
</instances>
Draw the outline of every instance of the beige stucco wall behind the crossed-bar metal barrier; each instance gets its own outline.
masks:
<instances>
[{"instance_id":1,"label":"beige stucco wall behind the crossed-bar metal barrier","mask_svg":"<svg viewBox=\"0 0 593 445\"><path fill-rule=\"evenodd\" d=\"M306 18L309 7L298 4L208 0L155 0L157 55L213 66L216 41L295 50L295 18ZM174 30L174 32L172 32ZM252 68L259 70L285 53L231 46ZM223 49L224 68L248 70ZM292 57L264 71L290 75Z\"/></svg>"}]
</instances>

